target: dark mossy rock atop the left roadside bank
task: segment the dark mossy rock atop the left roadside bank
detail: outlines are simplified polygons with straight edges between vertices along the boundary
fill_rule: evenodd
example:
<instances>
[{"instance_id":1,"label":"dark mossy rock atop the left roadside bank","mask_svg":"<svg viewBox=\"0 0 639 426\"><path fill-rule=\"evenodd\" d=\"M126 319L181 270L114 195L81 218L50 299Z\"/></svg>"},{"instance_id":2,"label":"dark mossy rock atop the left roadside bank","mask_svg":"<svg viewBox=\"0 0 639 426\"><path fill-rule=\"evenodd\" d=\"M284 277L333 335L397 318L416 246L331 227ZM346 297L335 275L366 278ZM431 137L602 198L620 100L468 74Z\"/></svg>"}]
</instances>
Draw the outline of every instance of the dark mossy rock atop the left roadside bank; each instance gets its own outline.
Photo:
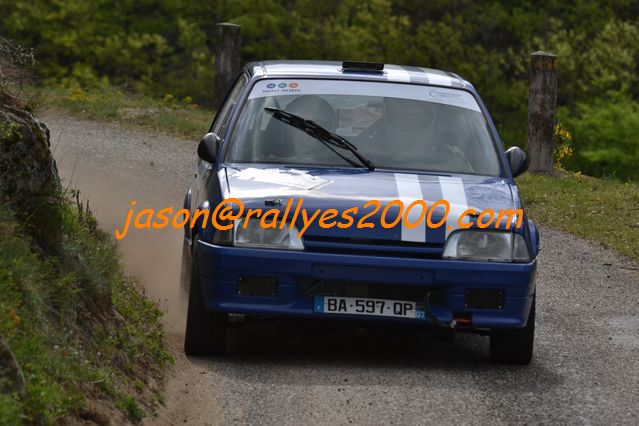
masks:
<instances>
[{"instance_id":1,"label":"dark mossy rock atop the left roadside bank","mask_svg":"<svg viewBox=\"0 0 639 426\"><path fill-rule=\"evenodd\" d=\"M49 129L30 112L0 106L0 202L8 203L44 248L61 240L60 178Z\"/></svg>"}]
</instances>

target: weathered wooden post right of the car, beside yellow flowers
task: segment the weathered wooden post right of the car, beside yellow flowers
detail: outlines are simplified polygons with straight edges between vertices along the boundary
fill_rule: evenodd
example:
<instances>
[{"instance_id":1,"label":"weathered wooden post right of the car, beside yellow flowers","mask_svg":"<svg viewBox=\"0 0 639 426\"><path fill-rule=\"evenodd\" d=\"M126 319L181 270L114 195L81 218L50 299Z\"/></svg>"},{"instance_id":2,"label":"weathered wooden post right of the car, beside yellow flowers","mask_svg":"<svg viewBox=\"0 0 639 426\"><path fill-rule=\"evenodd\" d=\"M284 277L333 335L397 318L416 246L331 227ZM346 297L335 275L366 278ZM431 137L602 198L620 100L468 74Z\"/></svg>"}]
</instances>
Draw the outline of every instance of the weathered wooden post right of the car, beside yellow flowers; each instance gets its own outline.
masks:
<instances>
[{"instance_id":1,"label":"weathered wooden post right of the car, beside yellow flowers","mask_svg":"<svg viewBox=\"0 0 639 426\"><path fill-rule=\"evenodd\" d=\"M529 169L533 172L553 170L556 106L557 56L547 52L535 52L530 55L526 145Z\"/></svg>"}]
</instances>

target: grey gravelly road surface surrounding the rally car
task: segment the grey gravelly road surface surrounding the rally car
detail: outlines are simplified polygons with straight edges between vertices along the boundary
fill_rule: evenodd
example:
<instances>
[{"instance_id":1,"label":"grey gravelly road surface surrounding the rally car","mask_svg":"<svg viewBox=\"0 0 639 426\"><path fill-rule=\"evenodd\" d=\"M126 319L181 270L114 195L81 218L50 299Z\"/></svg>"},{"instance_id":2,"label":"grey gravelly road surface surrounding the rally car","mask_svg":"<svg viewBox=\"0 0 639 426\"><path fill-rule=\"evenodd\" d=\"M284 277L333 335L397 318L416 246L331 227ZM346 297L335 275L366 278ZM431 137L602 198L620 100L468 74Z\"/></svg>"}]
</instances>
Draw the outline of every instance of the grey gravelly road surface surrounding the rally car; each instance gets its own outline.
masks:
<instances>
[{"instance_id":1,"label":"grey gravelly road surface surrounding the rally car","mask_svg":"<svg viewBox=\"0 0 639 426\"><path fill-rule=\"evenodd\" d=\"M181 206L195 142L46 114L64 181L105 229L137 207ZM204 130L207 123L203 123ZM221 358L182 355L180 233L134 230L125 263L166 312L176 355L148 424L639 424L639 265L541 228L535 358L488 363L488 339L413 331L240 323Z\"/></svg>"}]
</instances>

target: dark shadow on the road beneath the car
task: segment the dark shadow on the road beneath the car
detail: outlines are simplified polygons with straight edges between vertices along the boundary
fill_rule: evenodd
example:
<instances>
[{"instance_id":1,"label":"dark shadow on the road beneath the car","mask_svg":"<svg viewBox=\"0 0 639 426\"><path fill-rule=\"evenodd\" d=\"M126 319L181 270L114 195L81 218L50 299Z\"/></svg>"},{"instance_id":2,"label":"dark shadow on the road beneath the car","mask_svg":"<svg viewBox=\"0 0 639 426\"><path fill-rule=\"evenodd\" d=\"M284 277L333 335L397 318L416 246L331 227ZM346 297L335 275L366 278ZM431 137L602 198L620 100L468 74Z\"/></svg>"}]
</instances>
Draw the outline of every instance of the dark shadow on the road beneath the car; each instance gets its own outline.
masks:
<instances>
[{"instance_id":1,"label":"dark shadow on the road beneath the car","mask_svg":"<svg viewBox=\"0 0 639 426\"><path fill-rule=\"evenodd\" d=\"M240 322L229 331L226 355L191 361L234 380L280 385L424 386L407 380L414 372L421 377L455 372L472 381L490 372L491 384L501 377L512 381L510 388L518 387L517 377L527 376L521 385L527 390L559 381L534 361L526 367L491 364L488 338L475 334L451 338L402 324L288 318Z\"/></svg>"}]
</instances>

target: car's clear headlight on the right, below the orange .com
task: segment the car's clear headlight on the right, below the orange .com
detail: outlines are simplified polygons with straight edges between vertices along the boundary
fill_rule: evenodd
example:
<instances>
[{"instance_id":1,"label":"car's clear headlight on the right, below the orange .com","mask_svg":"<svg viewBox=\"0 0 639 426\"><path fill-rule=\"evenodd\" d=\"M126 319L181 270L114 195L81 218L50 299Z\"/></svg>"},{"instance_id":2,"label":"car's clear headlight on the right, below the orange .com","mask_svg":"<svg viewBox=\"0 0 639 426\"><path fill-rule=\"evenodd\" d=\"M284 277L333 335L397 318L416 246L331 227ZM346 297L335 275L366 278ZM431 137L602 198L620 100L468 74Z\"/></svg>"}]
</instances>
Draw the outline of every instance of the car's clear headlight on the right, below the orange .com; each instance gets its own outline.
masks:
<instances>
[{"instance_id":1,"label":"car's clear headlight on the right, below the orange .com","mask_svg":"<svg viewBox=\"0 0 639 426\"><path fill-rule=\"evenodd\" d=\"M526 241L511 232L457 231L446 241L445 259L528 262Z\"/></svg>"}]
</instances>

